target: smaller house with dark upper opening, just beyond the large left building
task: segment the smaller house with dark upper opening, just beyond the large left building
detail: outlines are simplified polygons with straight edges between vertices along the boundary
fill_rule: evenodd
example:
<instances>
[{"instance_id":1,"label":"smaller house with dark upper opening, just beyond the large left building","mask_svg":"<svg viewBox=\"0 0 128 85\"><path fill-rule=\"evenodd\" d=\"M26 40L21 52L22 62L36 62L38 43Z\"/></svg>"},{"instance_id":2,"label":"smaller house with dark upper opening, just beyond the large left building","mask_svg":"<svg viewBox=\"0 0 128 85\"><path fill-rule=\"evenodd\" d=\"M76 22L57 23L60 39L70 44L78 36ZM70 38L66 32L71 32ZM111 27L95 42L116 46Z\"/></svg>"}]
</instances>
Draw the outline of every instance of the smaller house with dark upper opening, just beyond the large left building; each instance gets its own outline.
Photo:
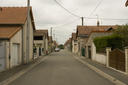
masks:
<instances>
[{"instance_id":1,"label":"smaller house with dark upper opening, just beyond the large left building","mask_svg":"<svg viewBox=\"0 0 128 85\"><path fill-rule=\"evenodd\" d=\"M48 30L34 31L34 57L48 54Z\"/></svg>"}]
</instances>

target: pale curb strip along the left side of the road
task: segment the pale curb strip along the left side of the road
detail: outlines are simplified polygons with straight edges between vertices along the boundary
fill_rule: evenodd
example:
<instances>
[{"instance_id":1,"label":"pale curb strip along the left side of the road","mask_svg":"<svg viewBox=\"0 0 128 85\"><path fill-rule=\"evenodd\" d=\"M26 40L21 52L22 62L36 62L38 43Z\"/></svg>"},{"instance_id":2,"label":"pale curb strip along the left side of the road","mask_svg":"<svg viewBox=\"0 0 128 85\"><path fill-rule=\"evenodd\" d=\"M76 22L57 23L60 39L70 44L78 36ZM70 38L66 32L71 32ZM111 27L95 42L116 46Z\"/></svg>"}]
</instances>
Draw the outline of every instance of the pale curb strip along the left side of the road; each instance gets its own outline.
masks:
<instances>
[{"instance_id":1,"label":"pale curb strip along the left side of the road","mask_svg":"<svg viewBox=\"0 0 128 85\"><path fill-rule=\"evenodd\" d=\"M22 76L23 74L25 74L26 72L30 71L32 68L34 68L35 66L37 66L38 64L40 64L42 61L46 60L47 57L44 57L43 59L37 61L35 64L31 65L29 68L24 69L18 73L16 73L14 76L0 82L0 85L8 85L11 82L13 82L14 80L16 80L17 78L19 78L20 76Z\"/></svg>"}]
</instances>

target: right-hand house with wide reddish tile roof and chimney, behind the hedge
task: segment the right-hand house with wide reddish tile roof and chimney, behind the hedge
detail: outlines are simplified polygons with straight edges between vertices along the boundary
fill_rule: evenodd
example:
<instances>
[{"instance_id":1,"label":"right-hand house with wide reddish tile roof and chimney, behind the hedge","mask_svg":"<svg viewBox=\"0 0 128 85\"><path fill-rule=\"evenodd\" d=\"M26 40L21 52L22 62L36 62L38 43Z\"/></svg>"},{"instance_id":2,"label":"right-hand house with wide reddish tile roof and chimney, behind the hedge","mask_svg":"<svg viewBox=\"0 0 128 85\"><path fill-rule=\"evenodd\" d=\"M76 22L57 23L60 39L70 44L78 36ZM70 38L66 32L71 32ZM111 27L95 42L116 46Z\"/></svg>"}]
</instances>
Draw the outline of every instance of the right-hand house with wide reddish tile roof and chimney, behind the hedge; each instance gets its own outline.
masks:
<instances>
[{"instance_id":1,"label":"right-hand house with wide reddish tile roof and chimney, behind the hedge","mask_svg":"<svg viewBox=\"0 0 128 85\"><path fill-rule=\"evenodd\" d=\"M117 26L77 26L77 40L78 40L78 54L92 57L92 43L95 37L110 35L111 30L116 29ZM104 33L107 32L107 33Z\"/></svg>"}]
</instances>

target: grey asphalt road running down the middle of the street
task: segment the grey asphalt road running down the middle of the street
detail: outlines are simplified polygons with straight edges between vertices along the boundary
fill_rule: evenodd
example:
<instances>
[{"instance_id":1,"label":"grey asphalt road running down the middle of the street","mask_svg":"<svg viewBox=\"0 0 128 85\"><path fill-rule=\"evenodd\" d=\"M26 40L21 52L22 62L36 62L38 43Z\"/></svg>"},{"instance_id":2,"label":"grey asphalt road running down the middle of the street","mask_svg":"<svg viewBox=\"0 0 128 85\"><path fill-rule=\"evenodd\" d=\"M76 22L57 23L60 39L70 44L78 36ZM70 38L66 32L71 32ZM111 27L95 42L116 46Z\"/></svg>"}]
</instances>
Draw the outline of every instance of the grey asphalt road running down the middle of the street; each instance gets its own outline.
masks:
<instances>
[{"instance_id":1,"label":"grey asphalt road running down the middle of the street","mask_svg":"<svg viewBox=\"0 0 128 85\"><path fill-rule=\"evenodd\" d=\"M72 56L67 51L52 53L10 85L114 85Z\"/></svg>"}]
</instances>

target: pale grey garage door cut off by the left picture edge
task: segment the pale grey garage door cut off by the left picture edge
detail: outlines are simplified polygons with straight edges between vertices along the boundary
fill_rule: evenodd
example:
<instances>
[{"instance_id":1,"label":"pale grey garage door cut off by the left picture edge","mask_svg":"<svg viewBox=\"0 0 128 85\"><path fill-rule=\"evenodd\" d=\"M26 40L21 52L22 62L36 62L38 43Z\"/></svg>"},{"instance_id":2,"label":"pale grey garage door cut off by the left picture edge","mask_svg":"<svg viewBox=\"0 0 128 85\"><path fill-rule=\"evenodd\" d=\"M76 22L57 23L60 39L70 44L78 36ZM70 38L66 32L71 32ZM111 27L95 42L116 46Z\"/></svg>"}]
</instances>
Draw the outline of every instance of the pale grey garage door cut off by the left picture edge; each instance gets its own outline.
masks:
<instances>
[{"instance_id":1,"label":"pale grey garage door cut off by the left picture edge","mask_svg":"<svg viewBox=\"0 0 128 85\"><path fill-rule=\"evenodd\" d=\"M5 70L5 45L0 42L0 71Z\"/></svg>"}]
</instances>

